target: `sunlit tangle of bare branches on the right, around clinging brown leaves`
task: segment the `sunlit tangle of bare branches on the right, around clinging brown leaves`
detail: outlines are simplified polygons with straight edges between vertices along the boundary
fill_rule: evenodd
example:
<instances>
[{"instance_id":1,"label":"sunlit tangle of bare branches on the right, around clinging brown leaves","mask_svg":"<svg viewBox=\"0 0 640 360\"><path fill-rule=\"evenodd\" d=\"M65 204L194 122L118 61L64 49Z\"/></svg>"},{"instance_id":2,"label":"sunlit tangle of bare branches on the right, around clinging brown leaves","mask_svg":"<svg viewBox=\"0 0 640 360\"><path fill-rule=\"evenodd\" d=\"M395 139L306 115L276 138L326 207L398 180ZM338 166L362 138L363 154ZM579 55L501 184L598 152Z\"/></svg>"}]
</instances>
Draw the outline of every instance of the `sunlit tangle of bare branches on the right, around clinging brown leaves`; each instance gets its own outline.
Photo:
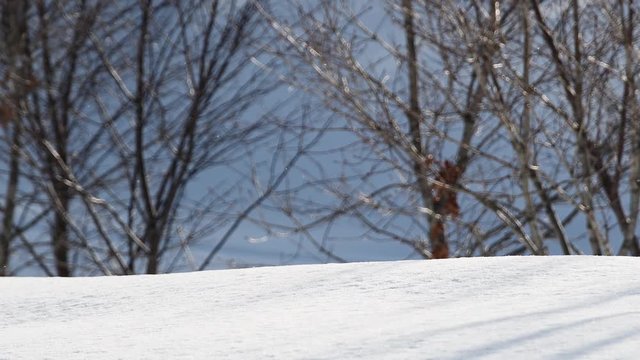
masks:
<instances>
[{"instance_id":1,"label":"sunlit tangle of bare branches on the right, around clinging brown leaves","mask_svg":"<svg viewBox=\"0 0 640 360\"><path fill-rule=\"evenodd\" d=\"M637 2L283 3L257 6L268 51L348 140L265 226L349 219L425 258L640 255Z\"/></svg>"}]
</instances>

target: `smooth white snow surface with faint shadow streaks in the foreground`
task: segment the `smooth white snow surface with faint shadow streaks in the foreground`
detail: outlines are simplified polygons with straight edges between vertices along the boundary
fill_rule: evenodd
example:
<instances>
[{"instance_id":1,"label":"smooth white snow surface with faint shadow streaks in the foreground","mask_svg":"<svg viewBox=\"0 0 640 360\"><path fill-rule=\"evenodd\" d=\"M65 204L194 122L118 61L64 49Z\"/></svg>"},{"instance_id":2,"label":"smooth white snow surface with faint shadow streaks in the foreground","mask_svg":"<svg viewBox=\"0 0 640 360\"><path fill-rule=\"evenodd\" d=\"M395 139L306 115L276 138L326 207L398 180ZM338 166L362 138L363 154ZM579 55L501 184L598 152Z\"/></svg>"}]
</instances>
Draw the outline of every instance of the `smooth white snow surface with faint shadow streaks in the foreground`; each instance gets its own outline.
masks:
<instances>
[{"instance_id":1,"label":"smooth white snow surface with faint shadow streaks in the foreground","mask_svg":"<svg viewBox=\"0 0 640 360\"><path fill-rule=\"evenodd\" d=\"M638 358L640 259L0 279L0 359Z\"/></svg>"}]
</instances>

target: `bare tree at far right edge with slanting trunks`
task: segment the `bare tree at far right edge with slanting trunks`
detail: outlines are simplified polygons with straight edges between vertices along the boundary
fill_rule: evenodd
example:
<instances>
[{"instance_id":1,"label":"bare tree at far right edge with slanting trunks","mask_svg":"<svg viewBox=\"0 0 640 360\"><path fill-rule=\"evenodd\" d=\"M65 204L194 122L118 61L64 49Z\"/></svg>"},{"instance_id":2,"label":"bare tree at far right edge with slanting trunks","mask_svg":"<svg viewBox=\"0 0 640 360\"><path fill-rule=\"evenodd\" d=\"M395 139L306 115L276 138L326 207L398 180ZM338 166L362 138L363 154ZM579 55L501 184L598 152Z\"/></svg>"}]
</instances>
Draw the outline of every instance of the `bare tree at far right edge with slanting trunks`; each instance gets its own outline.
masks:
<instances>
[{"instance_id":1,"label":"bare tree at far right edge with slanting trunks","mask_svg":"<svg viewBox=\"0 0 640 360\"><path fill-rule=\"evenodd\" d=\"M557 9L555 16L545 16L539 2L532 1L531 7L548 63L557 75L554 85L563 90L562 97L547 96L545 101L563 125L563 135L552 140L573 144L573 151L555 145L556 153L573 178L573 201L585 218L591 251L598 255L613 253L609 229L602 225L613 215L624 239L618 253L637 256L634 179L639 153L637 121L629 120L637 116L637 68L632 65L637 56L632 50L637 36L635 6L623 1L584 5L570 1ZM607 16L601 18L600 13ZM554 28L561 31L554 32ZM558 111L564 108L561 103L568 104L571 112ZM602 196L607 206L598 204ZM627 209L625 198L629 201Z\"/></svg>"}]
</instances>

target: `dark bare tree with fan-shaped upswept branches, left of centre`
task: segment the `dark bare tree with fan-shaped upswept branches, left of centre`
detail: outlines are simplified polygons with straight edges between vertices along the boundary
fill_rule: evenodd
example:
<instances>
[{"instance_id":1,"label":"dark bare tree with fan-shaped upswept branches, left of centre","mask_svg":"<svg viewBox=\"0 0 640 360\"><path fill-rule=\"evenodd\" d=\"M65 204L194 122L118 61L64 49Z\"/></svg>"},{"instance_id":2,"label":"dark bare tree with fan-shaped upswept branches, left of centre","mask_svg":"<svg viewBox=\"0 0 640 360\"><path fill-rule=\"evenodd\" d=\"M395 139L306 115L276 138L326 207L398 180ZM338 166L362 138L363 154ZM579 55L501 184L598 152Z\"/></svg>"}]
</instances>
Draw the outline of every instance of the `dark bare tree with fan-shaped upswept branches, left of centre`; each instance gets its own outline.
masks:
<instances>
[{"instance_id":1,"label":"dark bare tree with fan-shaped upswept branches, left of centre","mask_svg":"<svg viewBox=\"0 0 640 360\"><path fill-rule=\"evenodd\" d=\"M247 70L257 50L254 36L259 29L253 5L174 3L162 10L173 12L168 28L160 10L167 5L147 1L138 10L138 41L132 57L135 88L131 98L125 98L132 105L135 126L123 133L125 138L131 136L134 146L131 151L119 150L130 164L127 221L144 228L140 239L148 248L148 273L158 271L189 182L264 136L265 126L243 123L238 116L270 86L259 73ZM161 51L149 47L153 42L162 44ZM172 78L180 73L183 80L178 85ZM129 259L133 270L135 251Z\"/></svg>"}]
</instances>

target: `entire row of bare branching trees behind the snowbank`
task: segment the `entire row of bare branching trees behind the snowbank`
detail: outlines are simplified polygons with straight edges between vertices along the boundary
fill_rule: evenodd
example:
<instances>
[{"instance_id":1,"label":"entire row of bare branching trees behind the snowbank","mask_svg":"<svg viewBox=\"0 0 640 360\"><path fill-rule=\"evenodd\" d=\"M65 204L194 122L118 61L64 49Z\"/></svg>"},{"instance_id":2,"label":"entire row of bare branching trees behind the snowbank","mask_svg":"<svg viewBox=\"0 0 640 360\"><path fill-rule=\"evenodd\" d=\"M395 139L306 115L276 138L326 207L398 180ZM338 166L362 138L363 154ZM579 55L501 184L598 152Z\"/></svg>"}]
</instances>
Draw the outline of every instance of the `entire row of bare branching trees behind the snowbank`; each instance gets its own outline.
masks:
<instances>
[{"instance_id":1,"label":"entire row of bare branching trees behind the snowbank","mask_svg":"<svg viewBox=\"0 0 640 360\"><path fill-rule=\"evenodd\" d=\"M1 0L0 272L205 269L245 223L329 261L638 256L638 10Z\"/></svg>"}]
</instances>

